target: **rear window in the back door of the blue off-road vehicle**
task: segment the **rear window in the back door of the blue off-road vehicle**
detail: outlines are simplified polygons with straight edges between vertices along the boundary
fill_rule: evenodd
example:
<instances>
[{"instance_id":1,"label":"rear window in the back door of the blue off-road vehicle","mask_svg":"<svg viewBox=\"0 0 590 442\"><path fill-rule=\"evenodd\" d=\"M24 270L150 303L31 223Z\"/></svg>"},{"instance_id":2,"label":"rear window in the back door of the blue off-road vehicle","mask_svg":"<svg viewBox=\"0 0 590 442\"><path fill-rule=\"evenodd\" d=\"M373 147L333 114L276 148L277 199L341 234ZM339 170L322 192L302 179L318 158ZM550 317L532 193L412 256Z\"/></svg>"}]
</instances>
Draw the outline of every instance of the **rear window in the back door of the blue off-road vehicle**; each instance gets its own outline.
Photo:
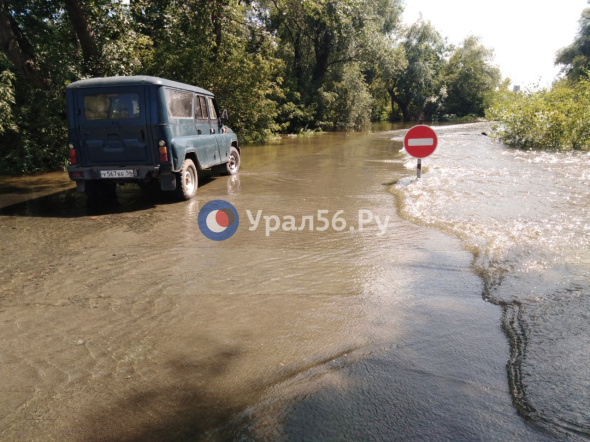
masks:
<instances>
[{"instance_id":1,"label":"rear window in the back door of the blue off-road vehicle","mask_svg":"<svg viewBox=\"0 0 590 442\"><path fill-rule=\"evenodd\" d=\"M84 118L87 120L126 120L139 118L140 113L136 93L84 96Z\"/></svg>"}]
</instances>

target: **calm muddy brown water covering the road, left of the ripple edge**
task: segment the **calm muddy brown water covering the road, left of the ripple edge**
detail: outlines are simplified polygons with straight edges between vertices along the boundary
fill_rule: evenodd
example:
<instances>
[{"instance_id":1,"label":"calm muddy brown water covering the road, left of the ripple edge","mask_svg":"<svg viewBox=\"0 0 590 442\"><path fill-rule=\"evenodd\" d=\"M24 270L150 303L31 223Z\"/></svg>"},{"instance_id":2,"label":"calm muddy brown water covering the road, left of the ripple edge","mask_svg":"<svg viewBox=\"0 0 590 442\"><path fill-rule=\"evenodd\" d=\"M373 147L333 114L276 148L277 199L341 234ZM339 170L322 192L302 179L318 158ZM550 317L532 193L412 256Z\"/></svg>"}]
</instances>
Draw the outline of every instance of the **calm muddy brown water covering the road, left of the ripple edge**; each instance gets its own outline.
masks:
<instances>
[{"instance_id":1,"label":"calm muddy brown water covering the road, left of the ripple edge","mask_svg":"<svg viewBox=\"0 0 590 442\"><path fill-rule=\"evenodd\" d=\"M472 255L397 215L389 189L414 172L391 138L246 146L239 175L180 203L2 179L0 439L546 438L512 405ZM239 213L225 241L199 231L211 200ZM360 230L369 212L386 229Z\"/></svg>"}]
</instances>

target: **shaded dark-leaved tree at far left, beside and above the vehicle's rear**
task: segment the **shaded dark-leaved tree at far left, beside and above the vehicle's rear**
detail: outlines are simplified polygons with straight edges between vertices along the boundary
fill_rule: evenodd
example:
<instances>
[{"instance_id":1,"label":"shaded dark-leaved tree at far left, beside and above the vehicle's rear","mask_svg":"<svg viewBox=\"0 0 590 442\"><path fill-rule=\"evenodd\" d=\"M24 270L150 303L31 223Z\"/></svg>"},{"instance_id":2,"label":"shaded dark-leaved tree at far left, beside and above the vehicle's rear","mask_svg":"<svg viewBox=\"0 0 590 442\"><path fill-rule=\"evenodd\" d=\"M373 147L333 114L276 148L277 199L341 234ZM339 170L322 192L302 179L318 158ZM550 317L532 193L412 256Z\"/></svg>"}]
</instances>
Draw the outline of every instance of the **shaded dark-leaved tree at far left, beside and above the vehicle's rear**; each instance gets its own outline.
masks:
<instances>
[{"instance_id":1,"label":"shaded dark-leaved tree at far left, beside and above the vehicle's rear","mask_svg":"<svg viewBox=\"0 0 590 442\"><path fill-rule=\"evenodd\" d=\"M4 101L12 124L0 134L0 169L63 166L65 86L139 71L151 42L135 33L128 6L109 0L0 0L0 22L0 70L14 74L13 99Z\"/></svg>"}]
</instances>

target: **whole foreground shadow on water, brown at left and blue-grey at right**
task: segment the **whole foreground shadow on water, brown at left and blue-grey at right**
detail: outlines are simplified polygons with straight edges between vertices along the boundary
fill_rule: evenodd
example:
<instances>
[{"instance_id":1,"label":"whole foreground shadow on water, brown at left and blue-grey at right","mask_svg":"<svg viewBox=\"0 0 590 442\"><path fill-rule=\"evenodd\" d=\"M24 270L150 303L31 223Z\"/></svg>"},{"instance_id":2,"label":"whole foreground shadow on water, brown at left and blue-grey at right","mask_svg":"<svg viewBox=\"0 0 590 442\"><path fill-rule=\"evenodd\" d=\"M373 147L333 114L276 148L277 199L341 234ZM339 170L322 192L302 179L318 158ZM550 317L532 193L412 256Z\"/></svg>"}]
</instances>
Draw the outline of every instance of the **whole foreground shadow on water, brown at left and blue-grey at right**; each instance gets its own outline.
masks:
<instances>
[{"instance_id":1,"label":"whole foreground shadow on water, brown at left and blue-grey at right","mask_svg":"<svg viewBox=\"0 0 590 442\"><path fill-rule=\"evenodd\" d=\"M478 440L482 434L490 440L554 440L534 422L529 427L511 425L509 410L494 403L501 390L490 391L489 386L460 377L433 375L398 353L393 350L385 355L368 355L360 361L348 361L341 355L329 363L308 367L304 376L311 375L309 391L287 399L282 403L284 408L277 408L274 399L268 403L268 398L273 390L289 389L301 381L297 373L286 379L255 381L249 387L242 386L239 394L228 395L215 384L231 376L244 356L236 348L223 349L197 364L171 360L167 371L184 381L154 383L151 388L120 394L117 401L109 401L108 406L94 409L79 421L80 431L83 439L91 442L468 441ZM208 379L207 385L187 381L199 376ZM325 378L341 379L346 385L330 386ZM493 402L487 410L482 409L482 395ZM449 401L453 396L460 400ZM474 419L473 410L481 415Z\"/></svg>"}]
</instances>

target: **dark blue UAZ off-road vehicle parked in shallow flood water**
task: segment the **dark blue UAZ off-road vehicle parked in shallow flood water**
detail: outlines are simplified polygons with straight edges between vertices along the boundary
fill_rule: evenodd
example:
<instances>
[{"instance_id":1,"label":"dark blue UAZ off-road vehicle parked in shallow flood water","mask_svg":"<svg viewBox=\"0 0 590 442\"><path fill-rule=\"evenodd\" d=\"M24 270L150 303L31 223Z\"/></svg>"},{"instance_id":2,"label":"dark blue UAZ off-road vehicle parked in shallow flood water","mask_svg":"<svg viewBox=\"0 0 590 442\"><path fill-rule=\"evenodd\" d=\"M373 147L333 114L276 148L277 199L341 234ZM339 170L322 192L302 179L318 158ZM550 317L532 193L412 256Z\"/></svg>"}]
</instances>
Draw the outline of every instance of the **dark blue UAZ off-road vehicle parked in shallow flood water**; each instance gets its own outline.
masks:
<instances>
[{"instance_id":1,"label":"dark blue UAZ off-road vehicle parked in shallow flood water","mask_svg":"<svg viewBox=\"0 0 590 442\"><path fill-rule=\"evenodd\" d=\"M156 77L81 80L66 88L70 163L78 191L154 183L192 198L198 172L236 174L240 147L209 91Z\"/></svg>"}]
</instances>

